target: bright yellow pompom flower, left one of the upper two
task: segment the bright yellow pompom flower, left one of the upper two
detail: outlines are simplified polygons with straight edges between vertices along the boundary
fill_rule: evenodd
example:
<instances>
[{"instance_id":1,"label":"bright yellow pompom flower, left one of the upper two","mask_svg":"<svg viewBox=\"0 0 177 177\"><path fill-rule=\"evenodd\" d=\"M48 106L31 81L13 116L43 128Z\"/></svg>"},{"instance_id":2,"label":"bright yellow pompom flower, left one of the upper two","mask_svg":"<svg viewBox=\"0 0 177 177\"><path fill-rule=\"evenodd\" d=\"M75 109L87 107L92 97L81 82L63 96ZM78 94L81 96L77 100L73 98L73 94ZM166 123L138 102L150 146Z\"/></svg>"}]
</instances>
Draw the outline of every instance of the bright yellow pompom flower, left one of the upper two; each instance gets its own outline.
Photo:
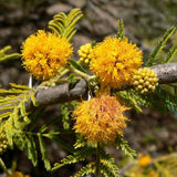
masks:
<instances>
[{"instance_id":1,"label":"bright yellow pompom flower, left one of the upper two","mask_svg":"<svg viewBox=\"0 0 177 177\"><path fill-rule=\"evenodd\" d=\"M37 80L49 80L67 64L73 49L66 39L39 30L22 44L22 62Z\"/></svg>"}]
</instances>

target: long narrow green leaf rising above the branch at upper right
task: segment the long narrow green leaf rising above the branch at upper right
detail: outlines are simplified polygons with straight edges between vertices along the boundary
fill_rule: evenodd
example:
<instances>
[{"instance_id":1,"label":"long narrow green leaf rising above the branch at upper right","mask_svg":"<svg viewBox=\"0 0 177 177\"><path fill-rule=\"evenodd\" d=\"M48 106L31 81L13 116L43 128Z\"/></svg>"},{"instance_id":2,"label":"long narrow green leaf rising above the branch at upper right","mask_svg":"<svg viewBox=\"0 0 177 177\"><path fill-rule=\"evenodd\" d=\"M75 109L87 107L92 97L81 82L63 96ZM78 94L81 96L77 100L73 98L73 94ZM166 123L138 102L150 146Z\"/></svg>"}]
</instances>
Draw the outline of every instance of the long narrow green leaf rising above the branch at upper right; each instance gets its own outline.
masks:
<instances>
[{"instance_id":1,"label":"long narrow green leaf rising above the branch at upper right","mask_svg":"<svg viewBox=\"0 0 177 177\"><path fill-rule=\"evenodd\" d=\"M147 63L145 64L146 66L150 66L150 65L155 65L157 64L157 60L159 58L159 53L162 52L162 50L165 48L165 44L167 43L168 39L170 38L170 35L175 32L176 28L171 27L170 29L168 29L166 31L166 33L164 34L164 37L162 38L162 40L157 43L157 45L154 48L153 52L150 53L149 59L147 60ZM174 52L171 51L167 56L167 60L169 61L173 56ZM169 58L169 59L168 59Z\"/></svg>"}]
</instances>

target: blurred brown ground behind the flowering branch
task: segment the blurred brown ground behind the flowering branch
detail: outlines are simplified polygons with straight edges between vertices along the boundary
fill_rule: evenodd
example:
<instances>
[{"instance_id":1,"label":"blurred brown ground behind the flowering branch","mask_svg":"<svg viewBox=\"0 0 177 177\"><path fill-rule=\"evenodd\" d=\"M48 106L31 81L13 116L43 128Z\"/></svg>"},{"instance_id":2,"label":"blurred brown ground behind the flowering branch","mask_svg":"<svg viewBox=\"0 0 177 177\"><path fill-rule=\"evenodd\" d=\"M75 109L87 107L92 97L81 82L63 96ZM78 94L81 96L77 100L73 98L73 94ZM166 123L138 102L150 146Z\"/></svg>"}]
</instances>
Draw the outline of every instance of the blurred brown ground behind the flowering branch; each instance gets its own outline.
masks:
<instances>
[{"instance_id":1,"label":"blurred brown ground behind the flowering branch","mask_svg":"<svg viewBox=\"0 0 177 177\"><path fill-rule=\"evenodd\" d=\"M118 19L124 20L126 37L143 50L144 60L164 32L171 25L177 25L176 0L0 0L0 49L11 45L9 53L20 52L22 42L37 30L48 29L48 22L54 14L62 11L67 13L74 8L82 9L84 13L72 40L75 58L82 44L115 35ZM170 38L169 44L176 41L177 33ZM11 82L28 84L28 79L20 60L0 63L0 87L8 88ZM41 124L58 115L58 105L48 107ZM131 111L128 117L131 122L125 129L125 139L137 153L149 154L152 158L156 158L177 152L177 117L173 113L145 107L142 114ZM66 140L73 143L72 138L67 137ZM52 163L69 154L51 142L48 143L48 152ZM117 164L126 164L127 159L114 147L108 147L107 152L116 158ZM12 159L17 160L17 168L32 177L67 177L82 166L71 165L55 173L46 173L42 162L38 167L32 167L25 153L18 149L8 152L3 158L9 165Z\"/></svg>"}]
</instances>

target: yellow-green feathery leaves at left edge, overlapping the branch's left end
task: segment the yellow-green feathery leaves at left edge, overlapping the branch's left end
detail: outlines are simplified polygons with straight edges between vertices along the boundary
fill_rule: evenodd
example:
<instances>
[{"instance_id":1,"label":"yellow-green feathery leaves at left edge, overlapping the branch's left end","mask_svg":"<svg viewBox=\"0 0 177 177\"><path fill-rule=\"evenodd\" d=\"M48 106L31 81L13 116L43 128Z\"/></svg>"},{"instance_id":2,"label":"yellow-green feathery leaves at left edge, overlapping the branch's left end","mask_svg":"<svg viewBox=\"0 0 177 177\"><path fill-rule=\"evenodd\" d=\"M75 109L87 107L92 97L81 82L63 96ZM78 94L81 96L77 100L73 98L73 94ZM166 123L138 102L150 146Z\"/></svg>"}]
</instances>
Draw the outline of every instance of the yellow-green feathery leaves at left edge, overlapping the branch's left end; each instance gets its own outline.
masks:
<instances>
[{"instance_id":1,"label":"yellow-green feathery leaves at left edge, overlapping the branch's left end","mask_svg":"<svg viewBox=\"0 0 177 177\"><path fill-rule=\"evenodd\" d=\"M31 100L31 95L35 91L25 85L11 84L11 90L0 90L1 94L7 94L7 96L0 97L0 126L4 129L8 143L12 148L13 135L29 124L24 104Z\"/></svg>"}]
</instances>

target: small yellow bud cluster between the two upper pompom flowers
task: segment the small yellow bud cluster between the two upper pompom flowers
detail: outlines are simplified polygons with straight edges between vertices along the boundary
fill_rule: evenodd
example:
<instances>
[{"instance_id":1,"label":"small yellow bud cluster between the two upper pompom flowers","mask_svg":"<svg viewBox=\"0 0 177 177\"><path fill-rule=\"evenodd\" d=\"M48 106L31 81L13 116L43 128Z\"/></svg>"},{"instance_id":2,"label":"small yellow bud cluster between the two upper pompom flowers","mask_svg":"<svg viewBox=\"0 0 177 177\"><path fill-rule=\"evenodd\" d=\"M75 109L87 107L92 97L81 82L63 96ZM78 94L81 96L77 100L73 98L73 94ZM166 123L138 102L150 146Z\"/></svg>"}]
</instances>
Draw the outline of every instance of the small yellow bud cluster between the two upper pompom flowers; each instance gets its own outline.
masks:
<instances>
[{"instance_id":1,"label":"small yellow bud cluster between the two upper pompom flowers","mask_svg":"<svg viewBox=\"0 0 177 177\"><path fill-rule=\"evenodd\" d=\"M93 59L92 44L86 43L85 45L82 45L79 50L79 56L81 62L83 62L85 65L88 65Z\"/></svg>"}]
</instances>

